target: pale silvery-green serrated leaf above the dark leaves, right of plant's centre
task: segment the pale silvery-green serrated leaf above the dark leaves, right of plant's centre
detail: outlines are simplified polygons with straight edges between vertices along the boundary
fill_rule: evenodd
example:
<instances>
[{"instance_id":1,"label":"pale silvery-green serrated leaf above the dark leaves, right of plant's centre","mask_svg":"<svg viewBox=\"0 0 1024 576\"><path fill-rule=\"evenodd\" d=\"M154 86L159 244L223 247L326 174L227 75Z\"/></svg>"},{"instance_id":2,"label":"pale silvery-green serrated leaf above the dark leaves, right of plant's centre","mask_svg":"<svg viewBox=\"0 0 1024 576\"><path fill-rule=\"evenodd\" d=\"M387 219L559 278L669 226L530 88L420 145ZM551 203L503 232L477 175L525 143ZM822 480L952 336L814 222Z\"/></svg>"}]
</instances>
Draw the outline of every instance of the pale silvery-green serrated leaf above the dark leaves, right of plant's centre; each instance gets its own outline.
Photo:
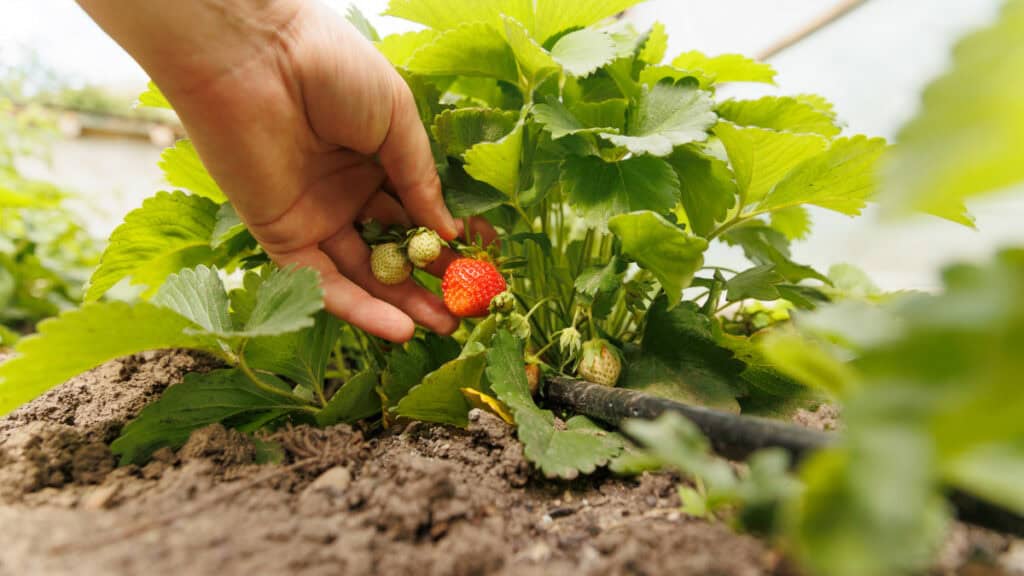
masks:
<instances>
[{"instance_id":1,"label":"pale silvery-green serrated leaf above the dark leaves, right of plant's centre","mask_svg":"<svg viewBox=\"0 0 1024 576\"><path fill-rule=\"evenodd\" d=\"M673 147L708 139L717 116L708 92L694 85L658 83L644 88L626 134L601 134L634 154L668 156Z\"/></svg>"}]
</instances>

